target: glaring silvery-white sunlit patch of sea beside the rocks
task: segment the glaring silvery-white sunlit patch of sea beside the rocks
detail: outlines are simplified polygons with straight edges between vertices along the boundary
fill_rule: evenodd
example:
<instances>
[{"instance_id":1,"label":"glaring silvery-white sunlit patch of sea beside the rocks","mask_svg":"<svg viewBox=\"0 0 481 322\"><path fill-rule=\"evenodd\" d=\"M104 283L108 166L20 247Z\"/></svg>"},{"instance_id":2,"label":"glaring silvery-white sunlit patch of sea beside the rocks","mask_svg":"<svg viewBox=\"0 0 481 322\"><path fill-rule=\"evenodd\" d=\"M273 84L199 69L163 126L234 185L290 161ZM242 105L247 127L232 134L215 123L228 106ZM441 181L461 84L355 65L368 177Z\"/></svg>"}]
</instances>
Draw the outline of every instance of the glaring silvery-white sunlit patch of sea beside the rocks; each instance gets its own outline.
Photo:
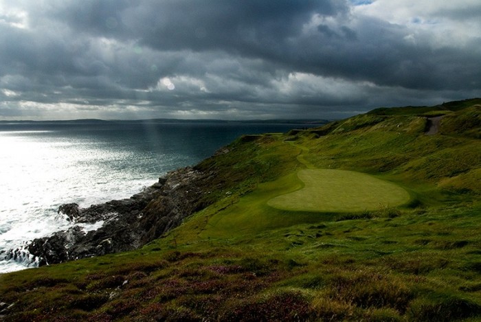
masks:
<instances>
[{"instance_id":1,"label":"glaring silvery-white sunlit patch of sea beside the rocks","mask_svg":"<svg viewBox=\"0 0 481 322\"><path fill-rule=\"evenodd\" d=\"M88 207L126 198L161 174L124 169L123 163L135 159L133 152L95 141L0 132L0 146L0 251L71 227L56 212L63 203ZM0 261L0 273L16 269Z\"/></svg>"}]
</instances>

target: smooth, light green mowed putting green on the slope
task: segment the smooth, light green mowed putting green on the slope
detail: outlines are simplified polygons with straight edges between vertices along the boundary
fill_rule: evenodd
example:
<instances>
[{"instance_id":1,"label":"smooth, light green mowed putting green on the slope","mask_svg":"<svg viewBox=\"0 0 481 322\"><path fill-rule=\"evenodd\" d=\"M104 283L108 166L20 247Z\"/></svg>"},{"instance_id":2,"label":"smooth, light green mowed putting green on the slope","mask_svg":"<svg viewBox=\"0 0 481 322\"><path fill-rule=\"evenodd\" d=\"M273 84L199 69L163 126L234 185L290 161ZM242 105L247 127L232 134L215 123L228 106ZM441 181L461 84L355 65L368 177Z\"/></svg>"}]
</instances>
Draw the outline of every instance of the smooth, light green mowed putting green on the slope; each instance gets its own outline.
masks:
<instances>
[{"instance_id":1,"label":"smooth, light green mowed putting green on the slope","mask_svg":"<svg viewBox=\"0 0 481 322\"><path fill-rule=\"evenodd\" d=\"M369 174L346 170L305 169L304 187L272 198L269 206L293 211L350 212L396 207L410 200L405 189Z\"/></svg>"}]
</instances>

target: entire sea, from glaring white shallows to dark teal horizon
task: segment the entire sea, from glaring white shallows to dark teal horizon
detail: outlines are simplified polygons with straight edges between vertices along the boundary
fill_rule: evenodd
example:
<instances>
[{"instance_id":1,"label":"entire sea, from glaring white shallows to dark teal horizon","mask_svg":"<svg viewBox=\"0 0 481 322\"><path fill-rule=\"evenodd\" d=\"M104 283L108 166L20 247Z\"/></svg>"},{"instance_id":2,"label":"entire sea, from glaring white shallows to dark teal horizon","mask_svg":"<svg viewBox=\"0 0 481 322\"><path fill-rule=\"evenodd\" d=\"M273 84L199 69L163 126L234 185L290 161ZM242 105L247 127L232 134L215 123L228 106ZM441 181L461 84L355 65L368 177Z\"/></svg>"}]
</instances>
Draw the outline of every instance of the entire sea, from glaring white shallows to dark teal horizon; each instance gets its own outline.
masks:
<instances>
[{"instance_id":1,"label":"entire sea, from glaring white shallows to dark teal horizon","mask_svg":"<svg viewBox=\"0 0 481 322\"><path fill-rule=\"evenodd\" d=\"M0 253L71 227L57 214L63 203L88 207L128 198L166 172L194 165L240 135L291 128L298 125L0 123ZM36 266L29 254L21 253L10 260L0 254L0 273Z\"/></svg>"}]
</instances>

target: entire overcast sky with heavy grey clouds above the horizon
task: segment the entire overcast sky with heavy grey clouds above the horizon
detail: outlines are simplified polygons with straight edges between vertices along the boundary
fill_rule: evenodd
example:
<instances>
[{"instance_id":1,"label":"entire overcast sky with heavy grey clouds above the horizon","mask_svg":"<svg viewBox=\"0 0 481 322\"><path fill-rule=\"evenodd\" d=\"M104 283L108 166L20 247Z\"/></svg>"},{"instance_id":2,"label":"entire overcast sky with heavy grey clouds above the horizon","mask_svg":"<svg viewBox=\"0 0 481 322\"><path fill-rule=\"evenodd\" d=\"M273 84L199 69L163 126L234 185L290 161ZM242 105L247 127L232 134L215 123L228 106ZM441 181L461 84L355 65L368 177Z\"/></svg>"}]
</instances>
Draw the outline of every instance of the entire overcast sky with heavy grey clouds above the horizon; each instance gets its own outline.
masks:
<instances>
[{"instance_id":1,"label":"entire overcast sky with heavy grey clouds above the horizon","mask_svg":"<svg viewBox=\"0 0 481 322\"><path fill-rule=\"evenodd\" d=\"M471 97L479 0L0 0L0 120L334 119Z\"/></svg>"}]
</instances>

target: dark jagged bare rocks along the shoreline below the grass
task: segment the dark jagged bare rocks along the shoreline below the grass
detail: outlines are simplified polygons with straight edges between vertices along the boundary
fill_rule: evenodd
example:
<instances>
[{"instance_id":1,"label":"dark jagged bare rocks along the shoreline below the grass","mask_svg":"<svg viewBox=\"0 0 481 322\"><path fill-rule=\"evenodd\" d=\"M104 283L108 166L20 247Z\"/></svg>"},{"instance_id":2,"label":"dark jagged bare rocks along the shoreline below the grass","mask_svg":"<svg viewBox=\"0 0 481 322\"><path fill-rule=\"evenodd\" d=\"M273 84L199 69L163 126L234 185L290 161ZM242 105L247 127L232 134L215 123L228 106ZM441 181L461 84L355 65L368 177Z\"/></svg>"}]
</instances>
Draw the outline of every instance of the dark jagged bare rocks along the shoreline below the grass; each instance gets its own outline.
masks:
<instances>
[{"instance_id":1,"label":"dark jagged bare rocks along the shoreline below the grass","mask_svg":"<svg viewBox=\"0 0 481 322\"><path fill-rule=\"evenodd\" d=\"M87 233L74 226L50 237L36 238L27 249L40 259L40 265L137 249L205 206L201 196L210 176L212 174L182 168L169 172L158 183L128 199L111 200L85 209L76 203L62 205L58 212L72 222L102 220L104 225Z\"/></svg>"}]
</instances>

